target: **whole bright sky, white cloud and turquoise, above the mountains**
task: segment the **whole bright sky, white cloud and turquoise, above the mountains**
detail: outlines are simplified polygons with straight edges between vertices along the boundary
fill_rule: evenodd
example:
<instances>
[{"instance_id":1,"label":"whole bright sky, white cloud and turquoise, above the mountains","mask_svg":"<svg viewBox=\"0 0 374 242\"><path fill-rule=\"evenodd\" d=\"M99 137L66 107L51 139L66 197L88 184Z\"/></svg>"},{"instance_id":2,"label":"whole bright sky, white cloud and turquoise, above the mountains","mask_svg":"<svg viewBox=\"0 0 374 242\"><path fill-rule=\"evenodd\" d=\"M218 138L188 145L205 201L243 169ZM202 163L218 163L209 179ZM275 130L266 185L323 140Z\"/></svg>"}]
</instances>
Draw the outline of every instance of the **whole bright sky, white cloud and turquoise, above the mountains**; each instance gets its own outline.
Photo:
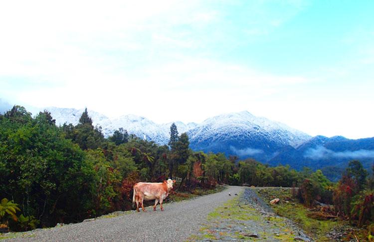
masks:
<instances>
[{"instance_id":1,"label":"whole bright sky, white cloud and turquoise, above the mountains","mask_svg":"<svg viewBox=\"0 0 374 242\"><path fill-rule=\"evenodd\" d=\"M0 98L374 136L374 1L2 1Z\"/></svg>"}]
</instances>

